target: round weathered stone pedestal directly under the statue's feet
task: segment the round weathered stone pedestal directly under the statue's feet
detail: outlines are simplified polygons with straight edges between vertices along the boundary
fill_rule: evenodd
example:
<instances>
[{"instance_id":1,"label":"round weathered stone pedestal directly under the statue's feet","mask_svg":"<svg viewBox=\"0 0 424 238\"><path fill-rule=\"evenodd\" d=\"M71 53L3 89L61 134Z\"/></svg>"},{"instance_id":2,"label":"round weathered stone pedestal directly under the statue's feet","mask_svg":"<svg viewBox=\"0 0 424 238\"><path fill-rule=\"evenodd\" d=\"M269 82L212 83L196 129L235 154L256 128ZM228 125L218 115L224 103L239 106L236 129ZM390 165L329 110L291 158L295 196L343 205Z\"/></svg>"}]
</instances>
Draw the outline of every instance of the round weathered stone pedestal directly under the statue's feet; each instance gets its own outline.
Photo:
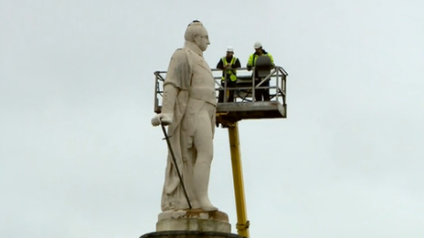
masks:
<instances>
[{"instance_id":1,"label":"round weathered stone pedestal directly under the statue's feet","mask_svg":"<svg viewBox=\"0 0 424 238\"><path fill-rule=\"evenodd\" d=\"M196 231L231 233L228 215L224 212L204 212L201 209L162 212L158 216L156 232Z\"/></svg>"}]
</instances>

